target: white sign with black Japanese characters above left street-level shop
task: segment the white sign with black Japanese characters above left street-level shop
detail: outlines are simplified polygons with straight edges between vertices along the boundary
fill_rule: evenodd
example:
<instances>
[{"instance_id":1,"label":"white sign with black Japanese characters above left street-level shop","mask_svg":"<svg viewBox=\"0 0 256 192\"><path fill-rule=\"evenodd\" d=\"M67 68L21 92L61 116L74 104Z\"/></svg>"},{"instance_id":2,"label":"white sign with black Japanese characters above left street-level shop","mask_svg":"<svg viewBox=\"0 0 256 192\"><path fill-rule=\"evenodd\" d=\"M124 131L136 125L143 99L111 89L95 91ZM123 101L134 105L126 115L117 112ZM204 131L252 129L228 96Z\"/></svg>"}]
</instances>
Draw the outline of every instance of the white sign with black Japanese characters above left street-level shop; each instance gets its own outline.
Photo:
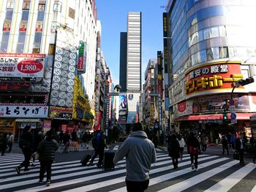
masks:
<instances>
[{"instance_id":1,"label":"white sign with black Japanese characters above left street-level shop","mask_svg":"<svg viewBox=\"0 0 256 192\"><path fill-rule=\"evenodd\" d=\"M48 106L0 106L0 118L48 118Z\"/></svg>"}]
</instances>

